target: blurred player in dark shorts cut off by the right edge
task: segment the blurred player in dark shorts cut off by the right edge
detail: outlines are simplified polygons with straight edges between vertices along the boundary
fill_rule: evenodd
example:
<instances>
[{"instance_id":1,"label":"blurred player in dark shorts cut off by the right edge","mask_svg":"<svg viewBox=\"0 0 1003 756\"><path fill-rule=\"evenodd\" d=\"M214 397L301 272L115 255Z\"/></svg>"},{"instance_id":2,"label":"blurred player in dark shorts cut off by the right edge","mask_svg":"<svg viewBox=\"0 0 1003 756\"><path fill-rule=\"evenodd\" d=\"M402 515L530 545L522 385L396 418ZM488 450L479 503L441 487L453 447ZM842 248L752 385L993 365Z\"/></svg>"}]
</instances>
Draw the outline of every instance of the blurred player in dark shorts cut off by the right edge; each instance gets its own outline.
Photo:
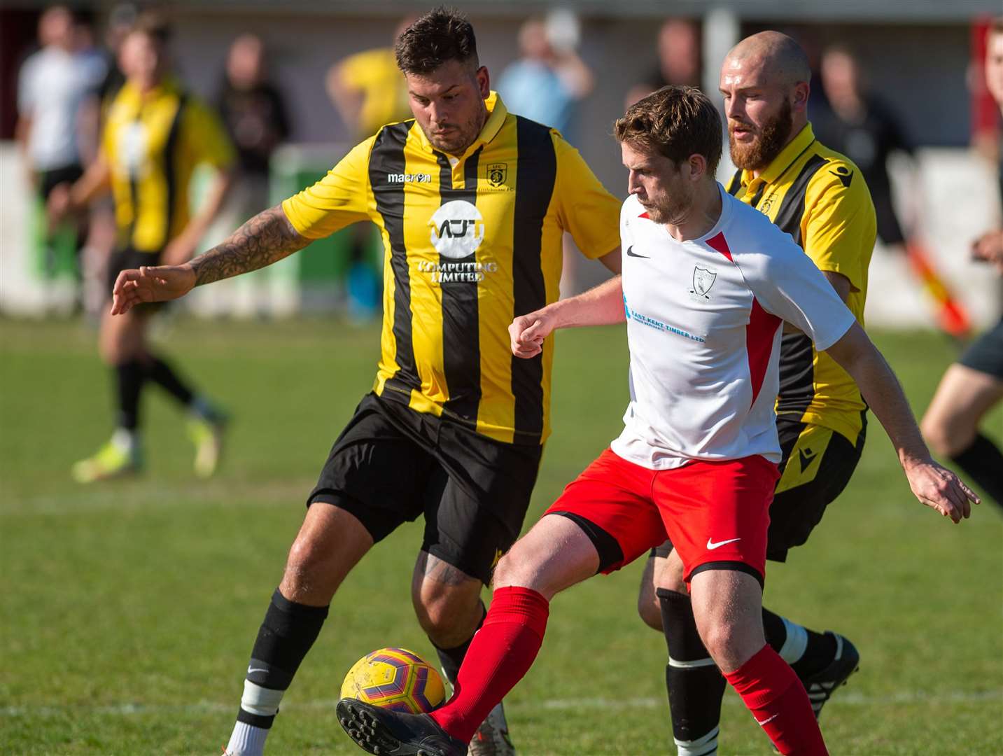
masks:
<instances>
[{"instance_id":1,"label":"blurred player in dark shorts cut off by the right edge","mask_svg":"<svg viewBox=\"0 0 1003 756\"><path fill-rule=\"evenodd\" d=\"M1003 18L986 35L986 84L1003 114ZM1000 162L1003 200L1003 162ZM1003 229L986 232L972 254L1003 274ZM1003 452L979 423L1003 399L1003 317L947 369L923 418L923 434L941 456L949 457L1003 506Z\"/></svg>"}]
</instances>

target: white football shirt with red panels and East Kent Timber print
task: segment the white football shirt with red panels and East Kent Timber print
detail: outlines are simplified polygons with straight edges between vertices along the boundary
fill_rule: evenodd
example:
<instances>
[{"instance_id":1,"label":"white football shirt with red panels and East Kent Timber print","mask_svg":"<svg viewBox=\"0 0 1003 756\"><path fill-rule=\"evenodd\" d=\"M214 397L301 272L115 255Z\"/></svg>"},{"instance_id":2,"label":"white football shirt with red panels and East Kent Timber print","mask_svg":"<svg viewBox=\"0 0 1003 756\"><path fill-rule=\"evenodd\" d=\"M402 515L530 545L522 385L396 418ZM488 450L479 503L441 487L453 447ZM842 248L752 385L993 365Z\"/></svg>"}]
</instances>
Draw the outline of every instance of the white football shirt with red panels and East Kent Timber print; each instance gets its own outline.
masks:
<instances>
[{"instance_id":1,"label":"white football shirt with red panels and East Kent Timber print","mask_svg":"<svg viewBox=\"0 0 1003 756\"><path fill-rule=\"evenodd\" d=\"M779 462L783 321L819 351L855 322L787 234L718 190L721 217L692 241L669 236L636 197L620 213L631 401L612 448L651 469L752 454Z\"/></svg>"}]
</instances>

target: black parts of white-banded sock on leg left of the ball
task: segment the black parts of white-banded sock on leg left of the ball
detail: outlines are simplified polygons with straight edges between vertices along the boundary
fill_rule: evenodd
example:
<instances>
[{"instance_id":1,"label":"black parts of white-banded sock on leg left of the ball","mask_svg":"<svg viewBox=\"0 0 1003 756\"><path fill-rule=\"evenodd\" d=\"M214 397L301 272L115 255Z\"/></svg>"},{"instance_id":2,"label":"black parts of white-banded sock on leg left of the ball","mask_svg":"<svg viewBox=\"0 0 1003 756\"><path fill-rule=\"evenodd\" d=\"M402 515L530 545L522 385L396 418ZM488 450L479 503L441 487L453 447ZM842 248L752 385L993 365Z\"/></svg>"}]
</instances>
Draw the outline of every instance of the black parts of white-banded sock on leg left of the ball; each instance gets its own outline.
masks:
<instances>
[{"instance_id":1,"label":"black parts of white-banded sock on leg left of the ball","mask_svg":"<svg viewBox=\"0 0 1003 756\"><path fill-rule=\"evenodd\" d=\"M327 609L291 602L276 589L251 652L247 679L273 691L289 688L300 663L320 635ZM275 715L264 717L241 709L237 721L267 730Z\"/></svg>"}]
</instances>

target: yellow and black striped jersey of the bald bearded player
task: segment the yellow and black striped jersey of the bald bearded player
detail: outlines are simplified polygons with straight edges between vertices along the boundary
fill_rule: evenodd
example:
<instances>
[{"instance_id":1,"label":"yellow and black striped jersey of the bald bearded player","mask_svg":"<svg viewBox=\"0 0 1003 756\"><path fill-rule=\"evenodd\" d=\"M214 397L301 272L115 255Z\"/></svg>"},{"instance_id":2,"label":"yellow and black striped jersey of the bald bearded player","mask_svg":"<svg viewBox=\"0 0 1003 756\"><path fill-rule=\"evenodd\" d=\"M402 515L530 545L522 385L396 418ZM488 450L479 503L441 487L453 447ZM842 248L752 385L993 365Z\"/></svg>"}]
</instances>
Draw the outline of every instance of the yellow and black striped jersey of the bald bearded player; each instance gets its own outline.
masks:
<instances>
[{"instance_id":1,"label":"yellow and black striped jersey of the bald bearded player","mask_svg":"<svg viewBox=\"0 0 1003 756\"><path fill-rule=\"evenodd\" d=\"M818 143L807 124L758 177L737 171L728 192L790 234L821 271L850 280L847 307L864 325L874 203L857 165ZM784 333L776 414L831 428L853 443L867 405L853 378L800 333Z\"/></svg>"}]
</instances>

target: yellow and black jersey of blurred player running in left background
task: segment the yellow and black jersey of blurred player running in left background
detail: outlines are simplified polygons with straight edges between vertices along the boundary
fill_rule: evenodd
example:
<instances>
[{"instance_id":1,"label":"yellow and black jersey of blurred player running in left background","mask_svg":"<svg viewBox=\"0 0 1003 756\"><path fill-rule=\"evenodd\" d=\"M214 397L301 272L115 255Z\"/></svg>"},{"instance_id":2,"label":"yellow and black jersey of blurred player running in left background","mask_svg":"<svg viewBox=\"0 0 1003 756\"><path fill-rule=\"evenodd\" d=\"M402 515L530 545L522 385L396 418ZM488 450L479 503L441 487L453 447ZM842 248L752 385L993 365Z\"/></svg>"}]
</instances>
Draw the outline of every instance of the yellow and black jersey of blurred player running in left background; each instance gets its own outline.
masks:
<instances>
[{"instance_id":1,"label":"yellow and black jersey of blurred player running in left background","mask_svg":"<svg viewBox=\"0 0 1003 756\"><path fill-rule=\"evenodd\" d=\"M111 169L117 246L157 253L189 223L196 165L223 168L234 148L216 114L168 78L148 92L126 82L108 108L101 149Z\"/></svg>"}]
</instances>

